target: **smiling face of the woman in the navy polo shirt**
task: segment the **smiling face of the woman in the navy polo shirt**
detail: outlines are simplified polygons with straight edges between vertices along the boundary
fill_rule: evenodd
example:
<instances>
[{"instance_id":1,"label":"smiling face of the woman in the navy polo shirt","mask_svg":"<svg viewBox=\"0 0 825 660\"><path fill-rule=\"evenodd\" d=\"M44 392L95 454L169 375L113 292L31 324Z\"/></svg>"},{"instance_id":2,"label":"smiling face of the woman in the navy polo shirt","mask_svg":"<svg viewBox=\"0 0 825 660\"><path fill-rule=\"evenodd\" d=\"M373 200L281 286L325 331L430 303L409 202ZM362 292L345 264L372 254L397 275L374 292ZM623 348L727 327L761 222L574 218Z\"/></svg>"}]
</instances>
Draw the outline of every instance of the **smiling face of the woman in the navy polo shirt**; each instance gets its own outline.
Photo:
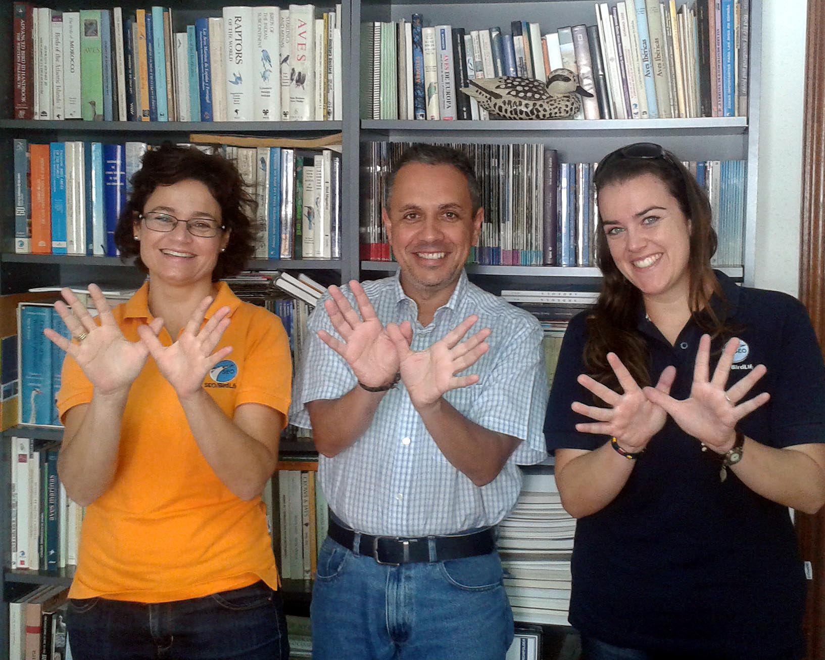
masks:
<instances>
[{"instance_id":1,"label":"smiling face of the woman in the navy polo shirt","mask_svg":"<svg viewBox=\"0 0 825 660\"><path fill-rule=\"evenodd\" d=\"M665 183L642 174L599 191L610 256L645 300L688 300L691 221Z\"/></svg>"}]
</instances>

